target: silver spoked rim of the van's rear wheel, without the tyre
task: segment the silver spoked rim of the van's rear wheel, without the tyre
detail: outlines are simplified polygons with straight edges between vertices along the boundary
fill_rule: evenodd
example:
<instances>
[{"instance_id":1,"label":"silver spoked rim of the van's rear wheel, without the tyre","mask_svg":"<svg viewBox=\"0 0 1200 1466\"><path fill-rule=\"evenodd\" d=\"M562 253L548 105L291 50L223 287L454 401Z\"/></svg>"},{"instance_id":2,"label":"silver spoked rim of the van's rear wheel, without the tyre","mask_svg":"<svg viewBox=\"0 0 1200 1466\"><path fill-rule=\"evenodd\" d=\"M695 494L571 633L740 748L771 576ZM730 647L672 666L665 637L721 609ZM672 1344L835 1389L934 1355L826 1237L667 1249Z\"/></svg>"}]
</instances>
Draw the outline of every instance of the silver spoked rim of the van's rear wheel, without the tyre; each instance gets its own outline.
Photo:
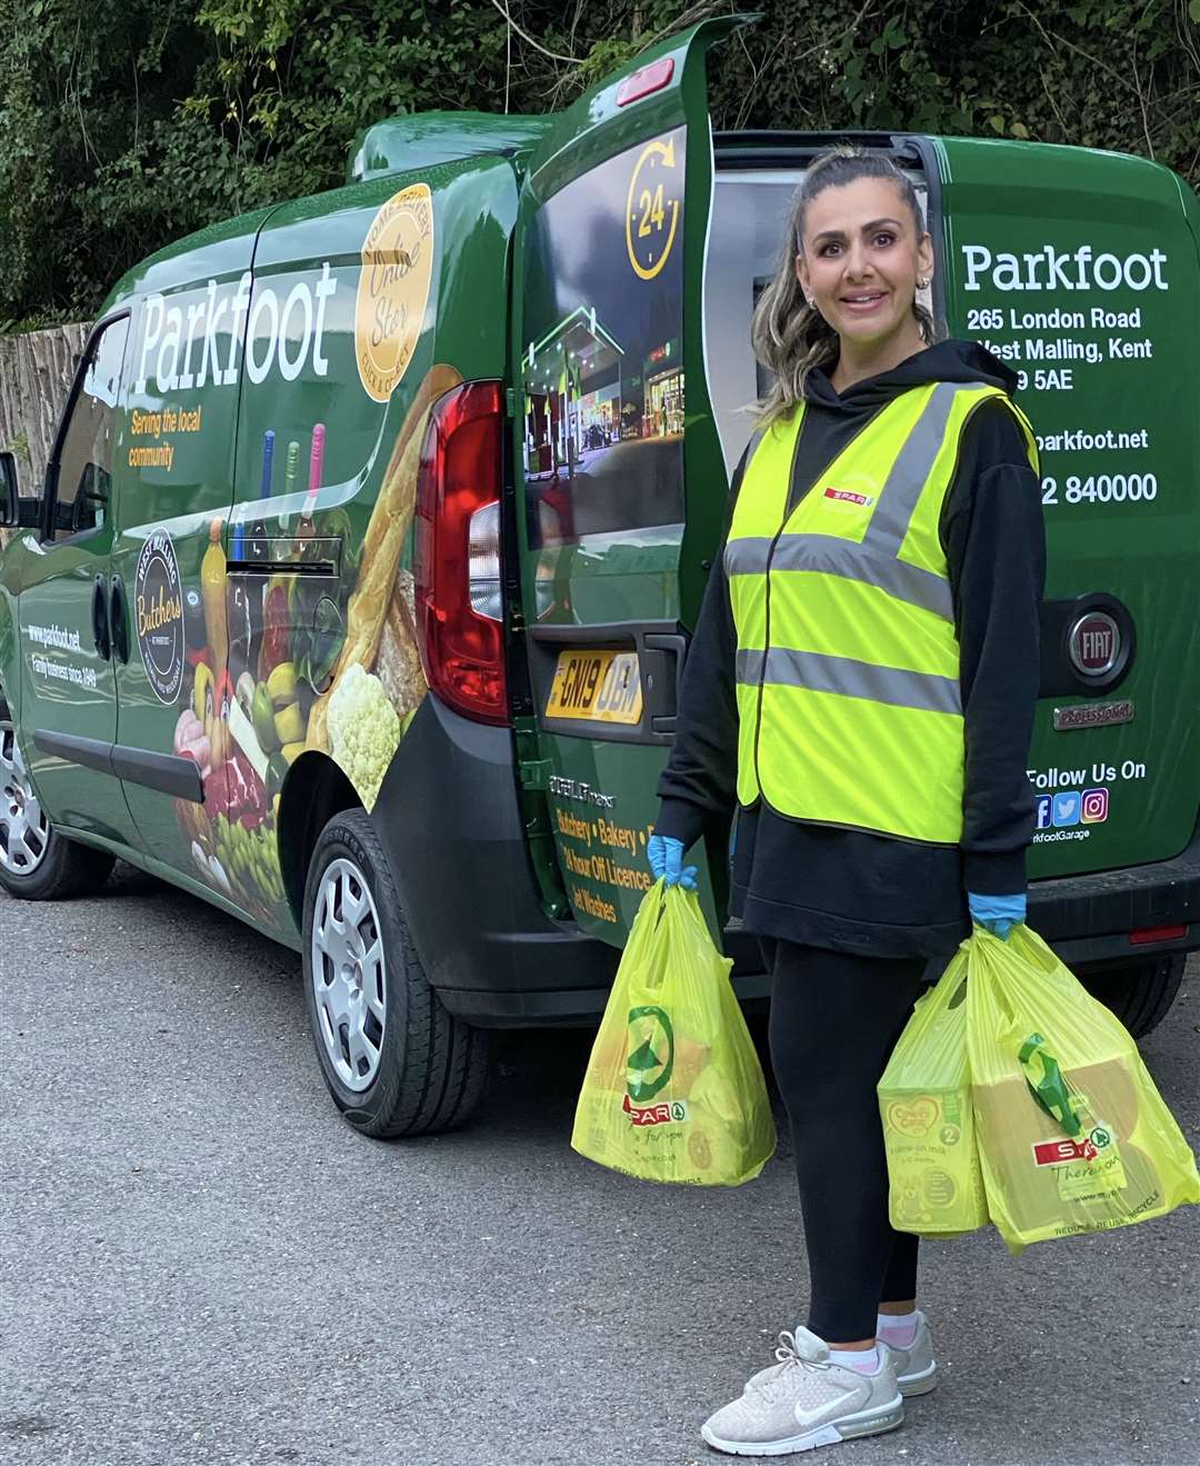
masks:
<instances>
[{"instance_id":1,"label":"silver spoked rim of the van's rear wheel, without the tyre","mask_svg":"<svg viewBox=\"0 0 1200 1466\"><path fill-rule=\"evenodd\" d=\"M312 913L312 991L325 1054L347 1089L369 1089L387 1022L387 969L371 887L353 861L331 861Z\"/></svg>"}]
</instances>

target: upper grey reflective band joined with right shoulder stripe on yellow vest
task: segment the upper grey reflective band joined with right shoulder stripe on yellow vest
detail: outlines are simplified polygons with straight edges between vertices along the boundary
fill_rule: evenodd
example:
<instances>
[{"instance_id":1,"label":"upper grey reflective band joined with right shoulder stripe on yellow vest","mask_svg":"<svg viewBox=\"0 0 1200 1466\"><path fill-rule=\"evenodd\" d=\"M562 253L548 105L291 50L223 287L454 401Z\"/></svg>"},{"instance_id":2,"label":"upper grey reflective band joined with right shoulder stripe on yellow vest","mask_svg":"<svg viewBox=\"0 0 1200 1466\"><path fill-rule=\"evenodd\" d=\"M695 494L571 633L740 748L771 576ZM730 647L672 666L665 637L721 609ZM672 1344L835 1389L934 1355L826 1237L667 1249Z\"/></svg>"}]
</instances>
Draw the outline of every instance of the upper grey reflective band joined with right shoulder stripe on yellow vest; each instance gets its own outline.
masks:
<instances>
[{"instance_id":1,"label":"upper grey reflective band joined with right shoulder stripe on yellow vest","mask_svg":"<svg viewBox=\"0 0 1200 1466\"><path fill-rule=\"evenodd\" d=\"M898 601L932 611L945 622L954 622L949 582L932 570L923 570L897 557L908 534L922 490L933 472L933 460L945 440L947 424L960 390L961 386L957 383L941 381L929 394L929 402L892 463L862 544L842 539L840 535L733 539L725 547L725 575L766 575L769 560L772 570L816 570L847 581L862 581ZM749 465L749 457L746 462ZM771 557L772 544L774 557Z\"/></svg>"}]
</instances>

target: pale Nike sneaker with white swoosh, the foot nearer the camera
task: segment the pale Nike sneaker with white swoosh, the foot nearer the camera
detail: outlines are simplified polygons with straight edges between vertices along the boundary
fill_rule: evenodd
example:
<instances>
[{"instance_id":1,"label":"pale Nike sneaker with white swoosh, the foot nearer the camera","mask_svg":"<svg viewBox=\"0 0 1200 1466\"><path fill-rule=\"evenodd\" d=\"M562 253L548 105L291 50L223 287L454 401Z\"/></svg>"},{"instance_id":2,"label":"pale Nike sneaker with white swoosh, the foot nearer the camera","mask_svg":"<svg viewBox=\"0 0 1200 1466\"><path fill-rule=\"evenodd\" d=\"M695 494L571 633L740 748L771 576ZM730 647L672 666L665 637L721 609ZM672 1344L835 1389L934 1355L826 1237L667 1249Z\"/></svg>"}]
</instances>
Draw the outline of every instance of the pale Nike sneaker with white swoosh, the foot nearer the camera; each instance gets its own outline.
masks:
<instances>
[{"instance_id":1,"label":"pale Nike sneaker with white swoosh, the foot nearer the camera","mask_svg":"<svg viewBox=\"0 0 1200 1466\"><path fill-rule=\"evenodd\" d=\"M886 1349L873 1375L829 1359L829 1346L797 1328L779 1334L779 1360L752 1375L740 1399L700 1426L718 1451L733 1456L788 1456L837 1445L856 1435L894 1431L904 1421L895 1362Z\"/></svg>"}]
</instances>

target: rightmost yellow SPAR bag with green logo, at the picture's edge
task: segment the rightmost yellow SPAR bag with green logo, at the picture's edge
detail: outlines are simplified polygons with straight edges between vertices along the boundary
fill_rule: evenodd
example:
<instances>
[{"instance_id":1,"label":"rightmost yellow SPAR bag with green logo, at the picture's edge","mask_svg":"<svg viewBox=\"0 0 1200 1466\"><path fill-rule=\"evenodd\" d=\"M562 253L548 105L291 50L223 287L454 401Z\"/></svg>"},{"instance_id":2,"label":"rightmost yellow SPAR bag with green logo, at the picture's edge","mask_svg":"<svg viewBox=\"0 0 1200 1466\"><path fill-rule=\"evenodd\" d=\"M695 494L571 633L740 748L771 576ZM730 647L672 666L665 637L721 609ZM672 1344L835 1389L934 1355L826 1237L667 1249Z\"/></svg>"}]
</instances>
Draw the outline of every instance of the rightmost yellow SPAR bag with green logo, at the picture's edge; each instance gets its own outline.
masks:
<instances>
[{"instance_id":1,"label":"rightmost yellow SPAR bag with green logo, at the picture's edge","mask_svg":"<svg viewBox=\"0 0 1200 1466\"><path fill-rule=\"evenodd\" d=\"M1119 1020L1027 927L968 946L983 1185L1010 1249L1200 1202L1196 1157Z\"/></svg>"}]
</instances>

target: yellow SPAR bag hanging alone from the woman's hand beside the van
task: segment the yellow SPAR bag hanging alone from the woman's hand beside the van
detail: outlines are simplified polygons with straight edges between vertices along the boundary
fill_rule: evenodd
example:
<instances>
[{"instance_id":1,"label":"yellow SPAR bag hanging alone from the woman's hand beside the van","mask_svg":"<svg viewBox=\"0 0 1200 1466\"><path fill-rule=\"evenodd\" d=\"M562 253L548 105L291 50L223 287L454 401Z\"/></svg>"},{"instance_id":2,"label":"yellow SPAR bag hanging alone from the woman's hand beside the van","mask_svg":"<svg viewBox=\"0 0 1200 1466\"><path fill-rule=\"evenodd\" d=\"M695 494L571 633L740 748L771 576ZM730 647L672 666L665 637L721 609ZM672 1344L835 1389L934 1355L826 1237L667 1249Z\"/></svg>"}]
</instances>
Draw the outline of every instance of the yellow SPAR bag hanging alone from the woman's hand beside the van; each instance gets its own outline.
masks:
<instances>
[{"instance_id":1,"label":"yellow SPAR bag hanging alone from the woman's hand beside the van","mask_svg":"<svg viewBox=\"0 0 1200 1466\"><path fill-rule=\"evenodd\" d=\"M579 1095L571 1146L648 1182L740 1186L775 1149L762 1066L695 891L646 891Z\"/></svg>"}]
</instances>

